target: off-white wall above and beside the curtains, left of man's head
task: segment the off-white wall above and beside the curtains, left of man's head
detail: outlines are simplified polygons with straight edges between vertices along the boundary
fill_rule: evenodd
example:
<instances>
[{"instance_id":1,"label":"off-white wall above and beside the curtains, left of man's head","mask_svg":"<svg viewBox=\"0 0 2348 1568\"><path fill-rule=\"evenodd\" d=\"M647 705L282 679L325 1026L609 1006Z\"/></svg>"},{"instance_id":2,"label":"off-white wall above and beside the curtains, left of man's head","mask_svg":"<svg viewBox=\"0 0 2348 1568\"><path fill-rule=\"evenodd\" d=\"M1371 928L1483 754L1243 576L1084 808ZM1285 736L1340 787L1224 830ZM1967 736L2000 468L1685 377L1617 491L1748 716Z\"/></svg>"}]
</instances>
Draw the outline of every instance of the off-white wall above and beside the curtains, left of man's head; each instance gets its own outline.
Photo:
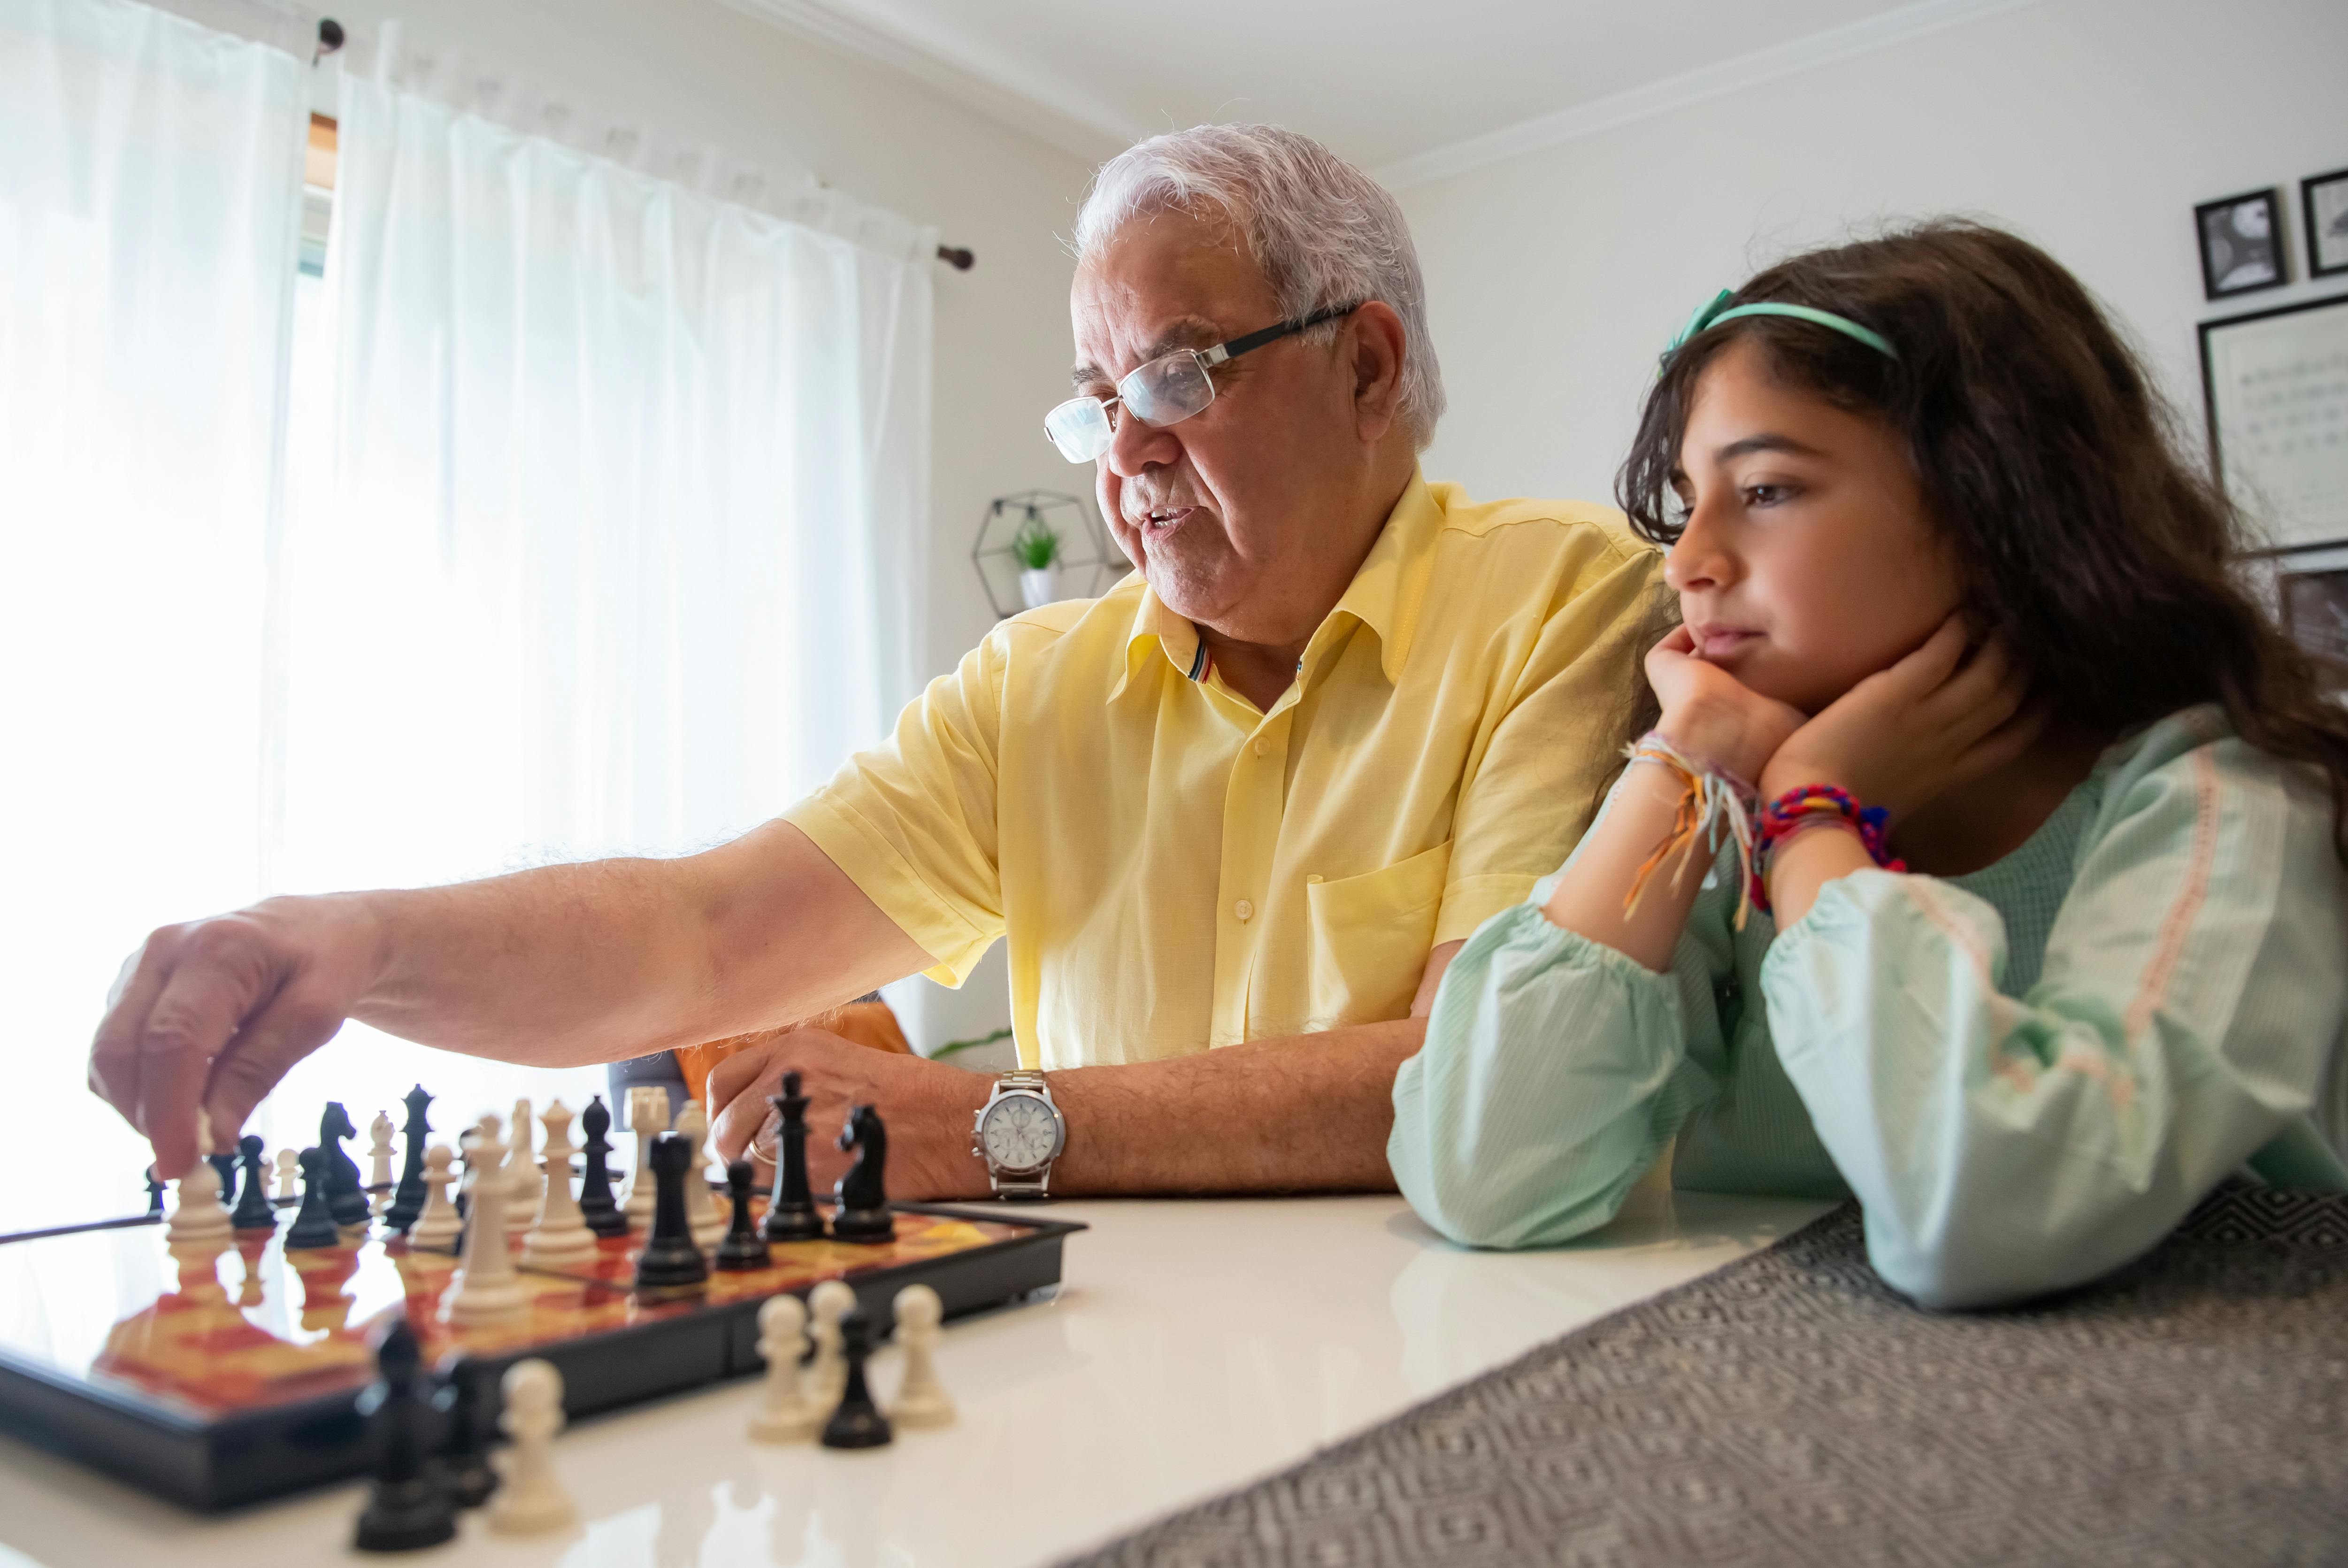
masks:
<instances>
[{"instance_id":1,"label":"off-white wall above and beside the curtains, left of man's head","mask_svg":"<svg viewBox=\"0 0 2348 1568\"><path fill-rule=\"evenodd\" d=\"M986 502L1085 488L1071 474L1089 484L1043 439L1043 411L1068 394L1075 268L1059 237L1075 223L1087 164L714 0L331 0L326 9L369 38L399 19L418 45L460 49L599 115L714 143L782 178L819 176L977 251L970 272L937 268L927 669L951 669L986 636L993 613L970 570ZM906 1009L916 1045L1010 1021L1000 951L960 993L918 988L923 1002Z\"/></svg>"}]
</instances>

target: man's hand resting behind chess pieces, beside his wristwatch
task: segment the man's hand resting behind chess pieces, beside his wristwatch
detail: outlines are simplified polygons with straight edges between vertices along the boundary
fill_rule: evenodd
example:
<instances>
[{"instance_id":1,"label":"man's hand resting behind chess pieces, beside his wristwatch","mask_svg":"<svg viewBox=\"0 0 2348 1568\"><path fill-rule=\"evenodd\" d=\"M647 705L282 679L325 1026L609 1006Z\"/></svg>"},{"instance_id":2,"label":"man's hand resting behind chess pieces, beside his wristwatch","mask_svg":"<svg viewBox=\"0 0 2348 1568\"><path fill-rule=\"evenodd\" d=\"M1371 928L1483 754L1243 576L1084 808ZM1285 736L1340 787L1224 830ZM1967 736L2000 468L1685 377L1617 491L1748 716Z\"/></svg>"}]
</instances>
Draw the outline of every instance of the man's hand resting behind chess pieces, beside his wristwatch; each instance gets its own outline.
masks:
<instances>
[{"instance_id":1,"label":"man's hand resting behind chess pieces, beside his wristwatch","mask_svg":"<svg viewBox=\"0 0 2348 1568\"><path fill-rule=\"evenodd\" d=\"M808 1183L826 1192L848 1169L834 1138L850 1106L873 1106L888 1122L888 1192L904 1199L986 1197L986 1167L970 1153L970 1122L993 1082L942 1061L876 1052L822 1028L775 1030L709 1070L709 1143L718 1160L749 1153L761 1176L775 1134L765 1103L784 1073L798 1073L808 1106Z\"/></svg>"}]
</instances>

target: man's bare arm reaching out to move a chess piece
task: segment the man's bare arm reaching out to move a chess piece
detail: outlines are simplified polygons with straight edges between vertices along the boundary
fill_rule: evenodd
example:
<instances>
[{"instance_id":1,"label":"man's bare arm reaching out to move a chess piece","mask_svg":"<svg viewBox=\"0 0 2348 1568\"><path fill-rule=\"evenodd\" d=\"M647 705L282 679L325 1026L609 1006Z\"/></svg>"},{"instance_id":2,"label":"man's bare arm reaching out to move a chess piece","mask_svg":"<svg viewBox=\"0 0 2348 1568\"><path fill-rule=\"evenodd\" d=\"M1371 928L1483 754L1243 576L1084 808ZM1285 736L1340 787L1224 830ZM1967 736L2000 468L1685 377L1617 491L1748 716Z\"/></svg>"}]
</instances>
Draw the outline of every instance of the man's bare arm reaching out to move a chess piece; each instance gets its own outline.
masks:
<instances>
[{"instance_id":1,"label":"man's bare arm reaching out to move a chess piece","mask_svg":"<svg viewBox=\"0 0 2348 1568\"><path fill-rule=\"evenodd\" d=\"M167 925L122 967L89 1087L193 1164L345 1019L528 1066L618 1061L803 1019L927 955L787 822L686 859L413 892L268 899Z\"/></svg>"}]
</instances>

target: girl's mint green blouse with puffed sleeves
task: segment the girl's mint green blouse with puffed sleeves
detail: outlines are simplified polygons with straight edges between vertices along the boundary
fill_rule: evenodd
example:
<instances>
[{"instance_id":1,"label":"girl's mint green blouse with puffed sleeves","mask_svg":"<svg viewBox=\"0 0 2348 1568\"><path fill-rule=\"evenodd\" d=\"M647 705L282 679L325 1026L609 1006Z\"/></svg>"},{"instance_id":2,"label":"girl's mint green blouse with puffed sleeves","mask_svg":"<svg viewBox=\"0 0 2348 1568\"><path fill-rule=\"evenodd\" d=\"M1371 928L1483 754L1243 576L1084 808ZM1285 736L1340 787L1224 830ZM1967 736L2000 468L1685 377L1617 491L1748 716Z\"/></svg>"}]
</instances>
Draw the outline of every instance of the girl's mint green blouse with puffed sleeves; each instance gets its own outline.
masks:
<instances>
[{"instance_id":1,"label":"girl's mint green blouse with puffed sleeves","mask_svg":"<svg viewBox=\"0 0 2348 1568\"><path fill-rule=\"evenodd\" d=\"M1557 878L1477 927L1395 1077L1430 1225L1564 1242L1669 1148L1681 1188L1857 1195L1876 1270L1965 1307L2118 1268L2233 1171L2348 1188L2332 798L2217 709L2106 751L1984 871L1860 871L1784 932L1735 930L1735 876L1723 850L1669 974L1550 925Z\"/></svg>"}]
</instances>

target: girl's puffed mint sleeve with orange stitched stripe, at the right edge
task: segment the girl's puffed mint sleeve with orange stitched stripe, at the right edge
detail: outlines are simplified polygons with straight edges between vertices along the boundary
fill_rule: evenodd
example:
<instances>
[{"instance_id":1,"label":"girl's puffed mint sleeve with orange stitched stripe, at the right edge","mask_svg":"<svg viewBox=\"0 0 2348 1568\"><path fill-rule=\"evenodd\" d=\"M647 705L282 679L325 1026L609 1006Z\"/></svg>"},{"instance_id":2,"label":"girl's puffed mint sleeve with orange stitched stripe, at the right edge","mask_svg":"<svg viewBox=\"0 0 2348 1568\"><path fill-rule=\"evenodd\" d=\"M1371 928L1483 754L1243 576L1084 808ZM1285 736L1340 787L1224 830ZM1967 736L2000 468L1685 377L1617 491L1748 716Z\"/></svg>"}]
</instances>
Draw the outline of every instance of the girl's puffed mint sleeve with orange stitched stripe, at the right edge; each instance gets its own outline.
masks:
<instances>
[{"instance_id":1,"label":"girl's puffed mint sleeve with orange stitched stripe, at the right edge","mask_svg":"<svg viewBox=\"0 0 2348 1568\"><path fill-rule=\"evenodd\" d=\"M2024 995L1986 901L1885 871L1829 883L1761 991L1876 1272L1972 1307L2127 1263L2271 1145L2348 1183L2343 953L2320 782L2219 739L2116 777Z\"/></svg>"}]
</instances>

